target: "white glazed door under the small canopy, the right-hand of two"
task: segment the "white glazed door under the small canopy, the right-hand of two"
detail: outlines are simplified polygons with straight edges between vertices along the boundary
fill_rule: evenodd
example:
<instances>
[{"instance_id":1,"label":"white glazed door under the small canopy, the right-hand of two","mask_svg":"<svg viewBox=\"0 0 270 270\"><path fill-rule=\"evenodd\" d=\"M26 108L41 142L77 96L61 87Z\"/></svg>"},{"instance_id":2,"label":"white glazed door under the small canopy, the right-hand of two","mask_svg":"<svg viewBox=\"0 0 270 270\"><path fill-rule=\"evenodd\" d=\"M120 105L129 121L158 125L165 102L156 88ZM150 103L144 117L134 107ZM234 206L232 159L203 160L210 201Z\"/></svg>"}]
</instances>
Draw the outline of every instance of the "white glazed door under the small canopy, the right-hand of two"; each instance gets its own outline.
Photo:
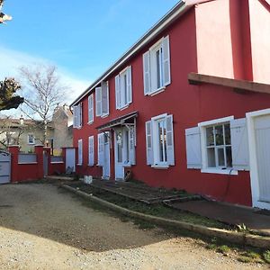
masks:
<instances>
[{"instance_id":1,"label":"white glazed door under the small canopy, the right-hand of two","mask_svg":"<svg viewBox=\"0 0 270 270\"><path fill-rule=\"evenodd\" d=\"M124 138L123 130L117 129L114 132L114 157L115 157L115 180L124 178Z\"/></svg>"}]
</instances>

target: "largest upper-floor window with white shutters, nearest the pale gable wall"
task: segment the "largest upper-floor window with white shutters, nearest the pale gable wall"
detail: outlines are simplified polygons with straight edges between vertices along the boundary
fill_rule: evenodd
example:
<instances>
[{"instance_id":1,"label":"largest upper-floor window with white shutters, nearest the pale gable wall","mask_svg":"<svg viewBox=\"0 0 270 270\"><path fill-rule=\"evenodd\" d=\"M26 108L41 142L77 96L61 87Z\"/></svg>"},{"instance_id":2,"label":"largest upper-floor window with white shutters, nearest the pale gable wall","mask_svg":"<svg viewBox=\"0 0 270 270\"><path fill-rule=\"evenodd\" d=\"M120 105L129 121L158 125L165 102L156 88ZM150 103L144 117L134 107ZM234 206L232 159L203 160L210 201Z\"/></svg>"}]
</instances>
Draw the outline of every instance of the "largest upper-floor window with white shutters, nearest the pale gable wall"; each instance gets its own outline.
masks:
<instances>
[{"instance_id":1,"label":"largest upper-floor window with white shutters, nearest the pale gable wall","mask_svg":"<svg viewBox=\"0 0 270 270\"><path fill-rule=\"evenodd\" d=\"M157 94L171 83L169 37L143 54L144 94Z\"/></svg>"}]
</instances>

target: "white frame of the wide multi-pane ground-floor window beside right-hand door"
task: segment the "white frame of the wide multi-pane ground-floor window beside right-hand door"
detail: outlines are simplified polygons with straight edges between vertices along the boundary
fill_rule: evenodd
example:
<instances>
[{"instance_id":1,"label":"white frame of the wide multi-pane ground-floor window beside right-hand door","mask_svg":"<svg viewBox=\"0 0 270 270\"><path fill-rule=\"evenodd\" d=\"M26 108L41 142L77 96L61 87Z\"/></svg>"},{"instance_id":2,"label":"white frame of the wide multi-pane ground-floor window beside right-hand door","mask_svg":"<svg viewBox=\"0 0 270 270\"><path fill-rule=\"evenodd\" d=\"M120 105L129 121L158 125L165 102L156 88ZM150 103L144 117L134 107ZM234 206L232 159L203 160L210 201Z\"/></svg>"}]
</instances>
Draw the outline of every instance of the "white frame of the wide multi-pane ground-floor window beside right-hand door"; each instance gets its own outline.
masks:
<instances>
[{"instance_id":1,"label":"white frame of the wide multi-pane ground-floor window beside right-hand door","mask_svg":"<svg viewBox=\"0 0 270 270\"><path fill-rule=\"evenodd\" d=\"M201 133L201 142L202 142L201 143L201 150L202 150L202 169L201 169L201 172L202 173L238 175L238 171L233 169L233 167L224 168L224 166L217 166L218 164L217 164L217 156L216 156L217 151L216 151L216 148L219 148L219 147L224 148L224 147L226 147L225 145L220 145L220 146L214 145L214 149L215 149L215 165L216 166L214 166L214 167L208 166L206 129L209 128L209 127L214 127L214 126L218 126L218 125L223 126L224 124L229 123L232 120L234 120L234 116L219 118L219 119L215 119L215 120L211 120L211 121L202 121L202 122L200 122L198 124L198 127L200 129L200 133ZM224 128L222 127L222 129L224 129ZM230 132L230 129L229 129L229 132ZM231 134L231 132L230 132L230 134ZM232 147L231 142L230 142L230 147ZM226 156L224 155L224 157L226 157Z\"/></svg>"}]
</instances>

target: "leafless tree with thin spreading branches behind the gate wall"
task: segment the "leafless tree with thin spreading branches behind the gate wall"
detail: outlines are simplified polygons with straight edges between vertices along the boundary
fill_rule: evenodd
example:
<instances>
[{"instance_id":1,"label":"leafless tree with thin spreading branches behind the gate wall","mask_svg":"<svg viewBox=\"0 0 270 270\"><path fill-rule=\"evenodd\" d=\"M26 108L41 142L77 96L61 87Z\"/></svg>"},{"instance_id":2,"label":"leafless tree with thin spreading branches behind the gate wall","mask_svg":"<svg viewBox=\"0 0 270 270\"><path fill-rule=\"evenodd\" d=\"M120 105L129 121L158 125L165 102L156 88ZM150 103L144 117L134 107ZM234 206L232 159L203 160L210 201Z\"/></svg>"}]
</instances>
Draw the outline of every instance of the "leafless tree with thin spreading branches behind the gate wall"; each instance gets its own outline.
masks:
<instances>
[{"instance_id":1,"label":"leafless tree with thin spreading branches behind the gate wall","mask_svg":"<svg viewBox=\"0 0 270 270\"><path fill-rule=\"evenodd\" d=\"M58 103L65 100L67 86L60 83L54 66L20 67L23 80L24 103L21 109L27 117L39 120L43 130L43 144L47 139L48 123Z\"/></svg>"}]
</instances>

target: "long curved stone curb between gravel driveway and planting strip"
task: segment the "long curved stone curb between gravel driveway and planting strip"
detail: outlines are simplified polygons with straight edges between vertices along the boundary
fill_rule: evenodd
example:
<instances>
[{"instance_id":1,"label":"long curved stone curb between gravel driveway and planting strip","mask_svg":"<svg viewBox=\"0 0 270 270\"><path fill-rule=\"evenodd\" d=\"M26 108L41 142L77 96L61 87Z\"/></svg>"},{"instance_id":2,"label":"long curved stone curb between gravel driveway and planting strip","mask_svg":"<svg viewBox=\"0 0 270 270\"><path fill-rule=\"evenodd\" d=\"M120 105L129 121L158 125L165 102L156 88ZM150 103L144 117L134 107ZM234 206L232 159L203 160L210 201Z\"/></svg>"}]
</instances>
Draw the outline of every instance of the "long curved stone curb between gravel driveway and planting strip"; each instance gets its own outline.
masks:
<instances>
[{"instance_id":1,"label":"long curved stone curb between gravel driveway and planting strip","mask_svg":"<svg viewBox=\"0 0 270 270\"><path fill-rule=\"evenodd\" d=\"M242 232L229 231L226 229L208 228L205 226L196 225L179 220L167 220L165 218L140 213L138 211L130 211L126 208L113 204L112 202L104 201L103 199L97 198L94 195L77 190L76 188L68 186L67 184L61 184L60 186L66 189L67 191L76 193L79 196L84 197L85 199L91 202L97 202L112 211L118 211L125 216L129 216L132 218L139 218L140 220L147 220L157 225L172 226L177 229L187 229L196 233L206 235L208 237L222 238L228 240L229 242L240 244L243 246L247 245L252 247L264 247L264 248L270 247L270 237L261 237Z\"/></svg>"}]
</instances>

